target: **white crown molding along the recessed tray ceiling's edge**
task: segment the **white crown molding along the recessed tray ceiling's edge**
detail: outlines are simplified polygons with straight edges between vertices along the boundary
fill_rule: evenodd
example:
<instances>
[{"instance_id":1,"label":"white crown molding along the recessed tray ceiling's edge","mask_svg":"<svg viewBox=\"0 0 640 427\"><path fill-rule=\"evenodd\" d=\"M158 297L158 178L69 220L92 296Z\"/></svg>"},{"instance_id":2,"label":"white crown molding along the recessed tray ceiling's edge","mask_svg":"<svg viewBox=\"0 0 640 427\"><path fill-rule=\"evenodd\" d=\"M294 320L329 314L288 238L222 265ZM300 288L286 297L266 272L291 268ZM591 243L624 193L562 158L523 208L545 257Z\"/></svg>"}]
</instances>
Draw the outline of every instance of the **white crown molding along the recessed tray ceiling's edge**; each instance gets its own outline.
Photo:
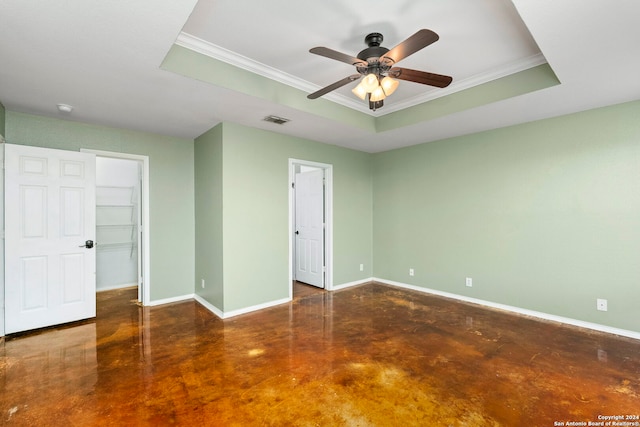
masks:
<instances>
[{"instance_id":1,"label":"white crown molding along the recessed tray ceiling's edge","mask_svg":"<svg viewBox=\"0 0 640 427\"><path fill-rule=\"evenodd\" d=\"M198 37L195 37L185 32L180 33L180 35L176 39L176 44L178 46L182 46L186 49L190 49L194 52L200 53L202 55L206 55L210 58L217 59L219 61L241 68L243 70L252 72L254 74L258 74L262 77L266 77L270 80L274 80L276 82L285 84L287 86L291 86L295 89L299 89L303 92L311 93L321 88L321 86L308 82L307 80L285 73L283 71L278 70L277 68L255 61L246 56L237 54L235 52L230 51L229 49L225 49L221 46L214 45L213 43L209 43L206 40L200 39ZM396 111L413 107L418 104L432 101L437 98L442 98L444 96L448 96L453 93L460 92L465 89L469 89L474 86L481 85L483 83L488 83L490 81L497 80L499 78L506 77L511 74L518 73L520 71L525 71L530 68L536 67L538 65L546 64L546 63L547 61L544 58L544 55L542 55L542 53L532 55L527 58L519 59L517 61L513 61L511 63L501 65L500 67L494 68L492 70L473 75L464 80L454 81L451 85L449 85L444 89L428 91L426 93L411 97L409 99L406 99L400 102L394 102L394 103L388 103L388 104L385 103L384 111L381 111L381 110L371 111L369 110L368 105L360 101L359 99L352 99L350 97L338 94L336 92L324 95L323 98L333 101L347 108L351 108L351 109L360 111L362 113L369 114L374 117L380 117L386 114L391 114Z\"/></svg>"}]
</instances>

